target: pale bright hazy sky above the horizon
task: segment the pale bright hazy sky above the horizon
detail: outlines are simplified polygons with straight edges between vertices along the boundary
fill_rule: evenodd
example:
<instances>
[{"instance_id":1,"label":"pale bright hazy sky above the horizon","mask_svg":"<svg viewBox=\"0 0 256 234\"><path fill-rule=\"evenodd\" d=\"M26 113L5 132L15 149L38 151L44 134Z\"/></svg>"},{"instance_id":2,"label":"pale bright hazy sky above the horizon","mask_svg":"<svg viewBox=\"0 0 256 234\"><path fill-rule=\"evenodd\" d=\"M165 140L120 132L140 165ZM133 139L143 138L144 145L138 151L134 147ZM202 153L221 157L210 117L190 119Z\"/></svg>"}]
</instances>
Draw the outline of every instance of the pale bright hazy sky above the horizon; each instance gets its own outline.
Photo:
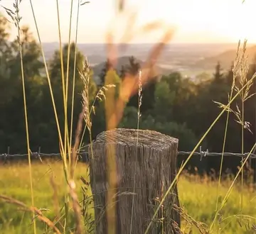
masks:
<instances>
[{"instance_id":1,"label":"pale bright hazy sky above the horizon","mask_svg":"<svg viewBox=\"0 0 256 234\"><path fill-rule=\"evenodd\" d=\"M14 0L0 0L0 5L12 8ZM63 42L68 41L70 0L58 0ZM247 38L256 43L256 0L127 0L127 8L137 9L137 27L151 21L163 20L176 28L175 43L235 42ZM36 21L43 42L58 41L56 0L32 0ZM115 0L91 0L80 6L78 43L105 43L110 23L118 23L122 35L126 24L124 16L115 16ZM73 0L72 40L75 38L75 21L78 0ZM4 9L1 9L4 12ZM36 35L29 0L21 2L22 24L30 26ZM119 30L118 30L119 29ZM13 29L15 35L16 30ZM151 43L161 36L160 31L134 37L133 42Z\"/></svg>"}]
</instances>

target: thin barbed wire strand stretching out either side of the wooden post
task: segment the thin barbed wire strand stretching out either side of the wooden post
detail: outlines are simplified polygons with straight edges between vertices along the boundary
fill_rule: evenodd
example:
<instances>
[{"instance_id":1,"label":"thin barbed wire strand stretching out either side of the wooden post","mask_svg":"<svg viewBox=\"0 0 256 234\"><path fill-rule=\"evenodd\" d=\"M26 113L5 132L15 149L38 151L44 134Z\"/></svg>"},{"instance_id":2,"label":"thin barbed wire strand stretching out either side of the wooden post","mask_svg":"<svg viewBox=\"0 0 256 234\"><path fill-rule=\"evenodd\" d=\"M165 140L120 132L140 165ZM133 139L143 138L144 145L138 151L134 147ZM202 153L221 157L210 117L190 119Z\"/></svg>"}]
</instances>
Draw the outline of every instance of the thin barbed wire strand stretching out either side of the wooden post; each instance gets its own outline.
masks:
<instances>
[{"instance_id":1,"label":"thin barbed wire strand stretching out either side of the wooden post","mask_svg":"<svg viewBox=\"0 0 256 234\"><path fill-rule=\"evenodd\" d=\"M9 151L9 150L8 150ZM40 152L40 149L38 150L39 152L31 152L31 158L32 159L39 159L42 161L42 158L45 157L49 157L49 158L53 158L53 157L60 157L62 158L63 156L60 153L42 153ZM71 152L72 153L72 152ZM192 152L186 152L186 151L178 151L178 156L188 156L191 155ZM201 150L200 147L200 151L199 152L193 152L193 156L200 156L200 160L202 160L204 157L216 157L216 156L236 156L236 157L241 157L242 159L244 159L245 157L248 157L250 153L249 152L245 152L245 153L237 153L237 152L209 152L208 150L203 151ZM14 154L11 155L9 153L4 153L4 154L0 154L0 160L12 160L12 159L22 159L22 158L26 158L28 157L28 154ZM68 157L68 154L66 155L66 157ZM254 153L251 153L249 155L250 159L255 159L256 155ZM82 160L83 162L88 162L89 161L89 152L86 150L82 150L80 152L78 152L78 159Z\"/></svg>"}]
</instances>

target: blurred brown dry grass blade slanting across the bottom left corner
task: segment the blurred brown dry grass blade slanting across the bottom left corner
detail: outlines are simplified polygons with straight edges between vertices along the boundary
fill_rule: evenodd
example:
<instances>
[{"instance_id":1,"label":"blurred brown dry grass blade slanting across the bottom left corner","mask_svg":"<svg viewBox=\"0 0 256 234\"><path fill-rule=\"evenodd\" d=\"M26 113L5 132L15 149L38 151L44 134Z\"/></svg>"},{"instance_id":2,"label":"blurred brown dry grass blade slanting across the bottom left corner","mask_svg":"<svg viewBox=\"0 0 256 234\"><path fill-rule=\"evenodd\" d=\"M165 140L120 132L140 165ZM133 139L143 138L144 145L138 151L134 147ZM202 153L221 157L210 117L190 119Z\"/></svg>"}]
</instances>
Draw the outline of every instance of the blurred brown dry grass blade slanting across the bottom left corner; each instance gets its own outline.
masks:
<instances>
[{"instance_id":1,"label":"blurred brown dry grass blade slanting across the bottom left corner","mask_svg":"<svg viewBox=\"0 0 256 234\"><path fill-rule=\"evenodd\" d=\"M43 216L42 211L38 210L38 208L33 207L33 206L28 207L28 206L26 206L26 204L23 204L23 202L13 199L9 196L0 195L0 199L6 201L9 204L21 206L21 208L23 208L23 210L25 210L25 211L33 212L38 219L40 219L41 221L46 223L46 225L48 225L50 228L53 228L53 230L55 230L56 233L60 234L60 230L58 230L58 228L55 227L55 225L53 224L52 221L50 221L50 219L46 218L46 216Z\"/></svg>"}]
</instances>

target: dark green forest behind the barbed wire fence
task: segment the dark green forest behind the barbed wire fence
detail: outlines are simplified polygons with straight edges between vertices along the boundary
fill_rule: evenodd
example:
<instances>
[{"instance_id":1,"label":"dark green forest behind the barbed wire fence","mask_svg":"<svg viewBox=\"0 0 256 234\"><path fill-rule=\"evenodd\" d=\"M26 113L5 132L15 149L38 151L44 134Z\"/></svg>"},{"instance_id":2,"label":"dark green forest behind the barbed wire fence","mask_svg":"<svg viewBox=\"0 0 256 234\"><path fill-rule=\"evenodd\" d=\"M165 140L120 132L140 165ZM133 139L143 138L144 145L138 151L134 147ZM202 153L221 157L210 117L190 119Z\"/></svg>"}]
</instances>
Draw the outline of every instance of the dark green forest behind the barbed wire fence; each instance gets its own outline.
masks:
<instances>
[{"instance_id":1,"label":"dark green forest behind the barbed wire fence","mask_svg":"<svg viewBox=\"0 0 256 234\"><path fill-rule=\"evenodd\" d=\"M17 40L11 41L9 38L9 22L5 18L0 18L0 153L6 153L9 147L11 154L26 153L26 129L24 121L23 92L21 84L21 62ZM36 42L29 28L22 28L22 48L23 48L23 67L26 79L26 100L28 110L28 128L30 135L31 151L51 153L59 152L58 130L55 123L53 104L50 99L48 81L45 75L45 67L41 62L41 48ZM63 47L63 63L66 70L68 45ZM73 126L78 122L81 111L81 93L83 89L82 80L78 71L82 69L86 55L77 52L77 69L75 70L75 99L74 99L74 118ZM73 87L73 72L75 59L75 44L70 49L70 67L68 85L68 114L71 113L71 99ZM234 58L235 59L235 58ZM90 62L90 61L89 61ZM100 78L104 84L104 77L107 73L109 63L106 62L105 69L102 69ZM142 91L142 117L140 118L139 128L157 130L161 133L171 135L179 139L178 150L191 151L198 140L206 132L210 124L215 120L221 108L214 102L228 104L228 93L233 84L233 69L224 71L221 64L216 64L215 72L211 79L193 81L193 79L182 77L179 72L171 72L163 75L161 79L151 79L149 84L143 87ZM116 82L122 82L127 73L137 74L140 65L135 57L130 57L129 64L123 66L116 72ZM251 64L248 79L256 71L256 64ZM51 85L55 105L58 111L60 128L64 126L63 114L63 89L61 82L60 51L55 51L54 56L48 61L48 72L50 74ZM66 73L66 71L65 71ZM93 77L93 74L92 74ZM91 79L90 96L91 101L101 85L97 86ZM250 94L256 90L253 84L250 87ZM245 101L245 121L250 123L250 130L245 130L244 142L245 152L249 152L256 138L256 118L255 100L252 96ZM233 103L236 109L241 105L240 98ZM120 128L137 128L137 108L138 96L135 94L129 100L124 110L124 116ZM70 124L70 117L68 121ZM230 113L228 123L228 135L225 145L225 152L241 152L241 126L235 121L234 113ZM221 152L223 148L223 137L225 132L226 113L215 124L213 129L203 141L203 150L210 152ZM106 129L105 108L101 102L96 104L96 114L92 115L92 138ZM89 143L88 134L83 139L85 144ZM183 159L184 157L182 157ZM181 163L181 158L178 160ZM200 162L193 157L191 163L197 167L216 169L220 165L220 159L208 158ZM224 167L237 167L240 159L233 157L225 158ZM188 163L189 165L189 163Z\"/></svg>"}]
</instances>

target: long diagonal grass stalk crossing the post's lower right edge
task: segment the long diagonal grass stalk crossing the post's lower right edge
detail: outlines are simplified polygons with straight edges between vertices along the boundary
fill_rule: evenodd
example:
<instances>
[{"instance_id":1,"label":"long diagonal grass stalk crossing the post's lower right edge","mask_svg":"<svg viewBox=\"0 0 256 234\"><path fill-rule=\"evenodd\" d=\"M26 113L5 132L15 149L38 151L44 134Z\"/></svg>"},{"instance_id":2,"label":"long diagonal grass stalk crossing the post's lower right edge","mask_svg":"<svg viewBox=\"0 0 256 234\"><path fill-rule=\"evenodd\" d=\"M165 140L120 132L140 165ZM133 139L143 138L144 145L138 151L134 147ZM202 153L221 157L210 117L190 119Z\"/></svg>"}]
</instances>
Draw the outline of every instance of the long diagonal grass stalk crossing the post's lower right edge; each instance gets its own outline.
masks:
<instances>
[{"instance_id":1,"label":"long diagonal grass stalk crossing the post's lower right edge","mask_svg":"<svg viewBox=\"0 0 256 234\"><path fill-rule=\"evenodd\" d=\"M255 79L255 76L252 77L251 80ZM213 121L213 123L210 125L210 127L208 128L208 130L206 130L206 133L204 133L204 135L202 136L202 138L198 141L198 144L193 148L191 154L188 156L188 158L186 159L186 161L183 163L183 165L181 166L181 168L178 170L176 177L174 178L174 181L171 182L171 185L169 186L169 189L167 189L166 193L164 194L163 199L161 200L159 206L156 208L156 211L154 213L154 216L151 218L151 221L149 222L149 225L146 228L145 234L149 233L149 228L151 227L154 218L156 217L157 213L159 212L159 209L161 208L161 205L164 203L164 200L166 199L166 196L168 196L168 194L170 193L172 187L174 186L174 184L177 182L178 177L180 176L181 172L183 171L184 167L186 166L186 164L188 163L188 161L191 159L193 153L196 151L196 149L201 145L202 141L204 138L206 138L206 135L208 135L208 133L210 132L210 130L213 128L213 126L215 126L215 123L218 122L219 118L223 115L223 113L228 109L228 106L230 106L230 104L233 103L233 101L238 97L238 95L240 95L241 91L244 90L247 87L247 84L249 84L250 81L246 82L246 84L237 92L237 94L235 94L235 96L233 96L233 99L231 99L228 103L228 105L223 106L223 110L220 111L219 115L217 116L217 118L215 118L215 120Z\"/></svg>"}]
</instances>

